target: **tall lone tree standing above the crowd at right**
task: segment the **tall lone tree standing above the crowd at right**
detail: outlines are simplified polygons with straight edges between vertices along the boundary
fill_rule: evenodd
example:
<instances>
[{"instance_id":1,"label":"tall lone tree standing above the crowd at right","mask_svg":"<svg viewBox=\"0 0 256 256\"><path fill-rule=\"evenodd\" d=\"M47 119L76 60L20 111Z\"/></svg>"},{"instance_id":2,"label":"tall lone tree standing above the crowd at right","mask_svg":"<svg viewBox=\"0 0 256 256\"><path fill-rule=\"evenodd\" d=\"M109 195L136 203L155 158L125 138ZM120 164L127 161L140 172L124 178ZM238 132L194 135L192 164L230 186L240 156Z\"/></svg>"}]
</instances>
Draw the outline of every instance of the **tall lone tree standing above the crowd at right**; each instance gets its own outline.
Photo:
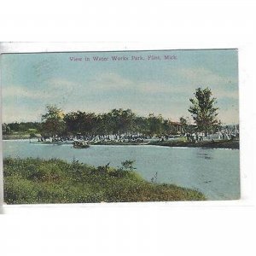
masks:
<instances>
[{"instance_id":1,"label":"tall lone tree standing above the crowd at right","mask_svg":"<svg viewBox=\"0 0 256 256\"><path fill-rule=\"evenodd\" d=\"M189 101L193 105L189 107L188 111L195 121L196 131L205 133L214 131L219 120L217 119L218 108L215 107L217 101L212 97L212 91L208 87L206 89L197 88L195 98L190 98Z\"/></svg>"}]
</instances>

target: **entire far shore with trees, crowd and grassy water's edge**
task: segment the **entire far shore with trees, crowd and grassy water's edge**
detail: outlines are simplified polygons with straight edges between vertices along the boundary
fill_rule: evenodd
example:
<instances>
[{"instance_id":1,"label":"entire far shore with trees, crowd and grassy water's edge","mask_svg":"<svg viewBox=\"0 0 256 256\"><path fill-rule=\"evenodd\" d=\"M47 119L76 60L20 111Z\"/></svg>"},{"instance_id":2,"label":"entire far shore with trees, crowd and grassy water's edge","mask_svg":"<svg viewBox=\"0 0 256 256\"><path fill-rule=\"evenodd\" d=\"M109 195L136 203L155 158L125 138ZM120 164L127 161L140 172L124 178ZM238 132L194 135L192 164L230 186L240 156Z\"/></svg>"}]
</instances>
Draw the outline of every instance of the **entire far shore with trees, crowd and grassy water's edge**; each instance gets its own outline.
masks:
<instances>
[{"instance_id":1,"label":"entire far shore with trees, crowd and grassy water's edge","mask_svg":"<svg viewBox=\"0 0 256 256\"><path fill-rule=\"evenodd\" d=\"M49 105L41 122L3 124L3 139L38 138L42 143L48 139L54 143L73 140L92 144L151 143L178 147L180 141L172 139L185 136L183 147L239 148L239 125L221 125L212 91L198 88L194 95L189 99L188 108L193 123L184 117L173 122L154 113L143 117L131 109L64 113L61 108Z\"/></svg>"}]
</instances>

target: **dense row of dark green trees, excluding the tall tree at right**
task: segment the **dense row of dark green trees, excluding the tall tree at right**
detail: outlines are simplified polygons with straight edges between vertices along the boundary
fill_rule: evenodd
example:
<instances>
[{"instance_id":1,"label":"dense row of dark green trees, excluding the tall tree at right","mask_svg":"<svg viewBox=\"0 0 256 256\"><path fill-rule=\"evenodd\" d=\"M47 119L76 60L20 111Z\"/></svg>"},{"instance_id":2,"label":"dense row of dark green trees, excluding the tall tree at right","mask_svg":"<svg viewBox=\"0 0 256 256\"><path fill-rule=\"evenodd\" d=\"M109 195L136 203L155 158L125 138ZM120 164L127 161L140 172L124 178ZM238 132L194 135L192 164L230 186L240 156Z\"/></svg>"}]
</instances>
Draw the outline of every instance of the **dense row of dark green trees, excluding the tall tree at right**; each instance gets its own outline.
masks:
<instances>
[{"instance_id":1,"label":"dense row of dark green trees, excluding the tall tree at right","mask_svg":"<svg viewBox=\"0 0 256 256\"><path fill-rule=\"evenodd\" d=\"M108 113L70 112L63 113L60 108L47 106L41 123L3 124L3 135L25 131L40 133L43 136L55 135L109 135L124 133L141 133L147 136L175 134L173 123L161 115L149 113L148 117L138 116L131 109L113 109Z\"/></svg>"}]
</instances>

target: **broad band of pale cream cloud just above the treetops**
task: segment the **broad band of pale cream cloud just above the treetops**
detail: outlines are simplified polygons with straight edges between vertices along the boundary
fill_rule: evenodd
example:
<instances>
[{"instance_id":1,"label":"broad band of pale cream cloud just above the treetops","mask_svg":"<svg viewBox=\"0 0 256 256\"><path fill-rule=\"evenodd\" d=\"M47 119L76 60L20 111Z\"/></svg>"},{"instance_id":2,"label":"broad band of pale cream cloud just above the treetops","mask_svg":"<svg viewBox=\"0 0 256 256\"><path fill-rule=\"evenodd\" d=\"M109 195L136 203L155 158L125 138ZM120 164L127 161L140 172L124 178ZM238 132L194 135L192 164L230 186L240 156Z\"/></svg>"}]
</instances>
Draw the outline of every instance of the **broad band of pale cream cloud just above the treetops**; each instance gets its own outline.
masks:
<instances>
[{"instance_id":1,"label":"broad band of pale cream cloud just above the treetops","mask_svg":"<svg viewBox=\"0 0 256 256\"><path fill-rule=\"evenodd\" d=\"M61 77L48 79L40 89L33 86L29 89L24 84L4 86L3 98L6 106L3 118L9 121L35 120L38 119L39 112L44 112L46 104L57 104L66 112L78 109L104 112L111 108L131 108L138 114L162 113L166 117L177 119L186 114L189 97L193 96L195 88L199 86L209 86L213 96L218 99L218 105L225 109L230 106L229 99L238 102L237 88L224 88L229 86L226 84L233 86L236 79L219 76L206 68L177 69L167 78L153 81L143 77L143 80L137 81L119 73L98 73L94 78L83 81ZM26 106L12 106L11 98L24 102ZM31 103L40 111L28 108ZM225 113L224 108L221 110L223 119L227 116L231 121L232 115L236 119L237 111Z\"/></svg>"}]
</instances>

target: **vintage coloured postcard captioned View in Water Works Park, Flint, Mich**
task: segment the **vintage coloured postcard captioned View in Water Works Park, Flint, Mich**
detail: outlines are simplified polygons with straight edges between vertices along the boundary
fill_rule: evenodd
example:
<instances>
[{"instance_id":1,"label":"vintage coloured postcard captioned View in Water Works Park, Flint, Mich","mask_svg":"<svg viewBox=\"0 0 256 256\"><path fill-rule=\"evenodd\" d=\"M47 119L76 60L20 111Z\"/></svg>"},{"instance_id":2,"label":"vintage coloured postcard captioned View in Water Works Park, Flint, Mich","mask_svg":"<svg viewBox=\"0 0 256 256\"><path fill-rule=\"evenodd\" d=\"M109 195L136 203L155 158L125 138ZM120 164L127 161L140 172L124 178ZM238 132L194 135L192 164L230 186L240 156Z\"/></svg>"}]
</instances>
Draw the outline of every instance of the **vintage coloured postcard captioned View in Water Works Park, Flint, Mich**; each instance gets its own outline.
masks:
<instances>
[{"instance_id":1,"label":"vintage coloured postcard captioned View in Water Works Park, Flint, Mich","mask_svg":"<svg viewBox=\"0 0 256 256\"><path fill-rule=\"evenodd\" d=\"M240 199L237 49L1 55L6 204Z\"/></svg>"}]
</instances>

